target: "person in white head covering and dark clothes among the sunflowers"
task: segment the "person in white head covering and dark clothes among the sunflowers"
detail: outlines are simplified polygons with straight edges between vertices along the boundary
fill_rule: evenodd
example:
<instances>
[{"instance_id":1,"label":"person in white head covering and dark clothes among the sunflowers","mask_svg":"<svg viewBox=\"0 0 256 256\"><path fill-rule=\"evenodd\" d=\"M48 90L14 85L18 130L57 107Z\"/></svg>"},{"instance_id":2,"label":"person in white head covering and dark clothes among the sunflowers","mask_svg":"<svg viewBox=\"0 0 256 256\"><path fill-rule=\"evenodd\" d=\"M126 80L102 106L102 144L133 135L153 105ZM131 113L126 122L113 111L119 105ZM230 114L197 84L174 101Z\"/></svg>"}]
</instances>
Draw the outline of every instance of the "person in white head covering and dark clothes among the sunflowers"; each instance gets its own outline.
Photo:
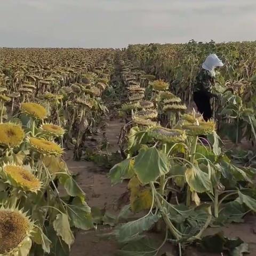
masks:
<instances>
[{"instance_id":1,"label":"person in white head covering and dark clothes among the sunflowers","mask_svg":"<svg viewBox=\"0 0 256 256\"><path fill-rule=\"evenodd\" d=\"M217 67L223 67L222 61L216 54L210 54L204 61L195 81L194 101L206 122L212 118L210 100L212 97L217 97L211 92L215 83L215 68Z\"/></svg>"}]
</instances>

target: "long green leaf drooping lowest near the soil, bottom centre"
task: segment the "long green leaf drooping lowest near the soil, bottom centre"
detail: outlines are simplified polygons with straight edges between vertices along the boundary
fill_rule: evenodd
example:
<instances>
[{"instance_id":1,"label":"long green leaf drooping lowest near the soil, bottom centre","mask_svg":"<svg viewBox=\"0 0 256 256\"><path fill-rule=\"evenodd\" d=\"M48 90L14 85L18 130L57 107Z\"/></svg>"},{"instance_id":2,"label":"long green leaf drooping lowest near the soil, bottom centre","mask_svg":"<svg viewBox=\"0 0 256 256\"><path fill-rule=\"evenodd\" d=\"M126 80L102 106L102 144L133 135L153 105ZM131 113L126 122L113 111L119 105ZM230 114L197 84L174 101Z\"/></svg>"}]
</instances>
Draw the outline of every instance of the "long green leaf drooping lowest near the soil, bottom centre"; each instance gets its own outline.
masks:
<instances>
[{"instance_id":1,"label":"long green leaf drooping lowest near the soil, bottom centre","mask_svg":"<svg viewBox=\"0 0 256 256\"><path fill-rule=\"evenodd\" d=\"M127 222L116 229L116 236L120 243L138 240L143 231L149 230L159 220L158 215L148 215L138 220Z\"/></svg>"}]
</instances>

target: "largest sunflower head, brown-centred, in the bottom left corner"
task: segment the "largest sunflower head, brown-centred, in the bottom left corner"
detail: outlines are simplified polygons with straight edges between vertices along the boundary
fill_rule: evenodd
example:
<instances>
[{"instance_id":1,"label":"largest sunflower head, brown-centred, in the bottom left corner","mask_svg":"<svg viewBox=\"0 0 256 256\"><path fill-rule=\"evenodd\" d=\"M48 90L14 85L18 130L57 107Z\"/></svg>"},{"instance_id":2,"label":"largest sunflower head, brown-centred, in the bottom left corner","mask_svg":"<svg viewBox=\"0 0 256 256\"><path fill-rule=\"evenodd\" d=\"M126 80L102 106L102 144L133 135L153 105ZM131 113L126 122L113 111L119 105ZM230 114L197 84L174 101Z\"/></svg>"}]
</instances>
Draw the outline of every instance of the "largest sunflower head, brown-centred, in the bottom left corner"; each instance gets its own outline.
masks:
<instances>
[{"instance_id":1,"label":"largest sunflower head, brown-centred, in the bottom left corner","mask_svg":"<svg viewBox=\"0 0 256 256\"><path fill-rule=\"evenodd\" d=\"M0 208L0 255L27 256L31 248L34 223L18 209ZM27 250L22 250L25 247ZM23 253L21 253L21 250ZM25 254L26 252L26 254Z\"/></svg>"}]
</instances>

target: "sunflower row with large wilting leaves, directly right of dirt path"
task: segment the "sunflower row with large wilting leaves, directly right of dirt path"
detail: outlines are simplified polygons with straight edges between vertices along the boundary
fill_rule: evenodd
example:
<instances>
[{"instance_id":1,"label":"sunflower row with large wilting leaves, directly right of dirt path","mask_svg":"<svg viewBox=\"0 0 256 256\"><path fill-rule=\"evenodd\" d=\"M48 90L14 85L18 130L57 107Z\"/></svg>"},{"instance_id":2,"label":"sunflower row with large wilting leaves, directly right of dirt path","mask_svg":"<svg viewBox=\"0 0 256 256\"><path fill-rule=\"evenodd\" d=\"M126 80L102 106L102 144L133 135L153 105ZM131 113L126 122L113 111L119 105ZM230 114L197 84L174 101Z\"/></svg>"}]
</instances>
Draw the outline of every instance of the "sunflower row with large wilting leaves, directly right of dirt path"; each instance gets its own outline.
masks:
<instances>
[{"instance_id":1,"label":"sunflower row with large wilting leaves, directly right of dirt path","mask_svg":"<svg viewBox=\"0 0 256 256\"><path fill-rule=\"evenodd\" d=\"M215 123L204 122L195 111L186 114L167 83L153 81L152 99L143 105L140 77L131 79L134 67L125 57L121 66L127 90L137 92L122 108L130 117L123 139L126 159L109 175L113 185L129 180L130 204L118 219L127 212L142 217L120 223L111 235L120 243L121 255L158 255L166 242L177 245L181 255L186 245L203 243L208 227L241 222L246 213L256 211L255 170L232 163L221 150ZM209 143L205 145L202 136ZM153 228L164 234L158 245L147 238Z\"/></svg>"}]
</instances>

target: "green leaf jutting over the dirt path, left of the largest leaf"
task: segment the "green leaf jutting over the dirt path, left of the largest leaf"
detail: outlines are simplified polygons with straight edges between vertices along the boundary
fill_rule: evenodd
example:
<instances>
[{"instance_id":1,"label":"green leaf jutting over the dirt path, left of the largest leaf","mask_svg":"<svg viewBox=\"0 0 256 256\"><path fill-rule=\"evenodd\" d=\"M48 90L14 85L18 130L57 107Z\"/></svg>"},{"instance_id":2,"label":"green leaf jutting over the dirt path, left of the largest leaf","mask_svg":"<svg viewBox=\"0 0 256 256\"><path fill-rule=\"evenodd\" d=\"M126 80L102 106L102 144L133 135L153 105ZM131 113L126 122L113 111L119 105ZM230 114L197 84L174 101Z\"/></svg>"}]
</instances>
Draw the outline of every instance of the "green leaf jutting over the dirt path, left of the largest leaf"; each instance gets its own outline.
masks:
<instances>
[{"instance_id":1,"label":"green leaf jutting over the dirt path, left of the largest leaf","mask_svg":"<svg viewBox=\"0 0 256 256\"><path fill-rule=\"evenodd\" d=\"M109 176L113 185L122 182L124 179L130 179L133 175L134 160L132 158L125 159L121 163L114 165Z\"/></svg>"}]
</instances>

